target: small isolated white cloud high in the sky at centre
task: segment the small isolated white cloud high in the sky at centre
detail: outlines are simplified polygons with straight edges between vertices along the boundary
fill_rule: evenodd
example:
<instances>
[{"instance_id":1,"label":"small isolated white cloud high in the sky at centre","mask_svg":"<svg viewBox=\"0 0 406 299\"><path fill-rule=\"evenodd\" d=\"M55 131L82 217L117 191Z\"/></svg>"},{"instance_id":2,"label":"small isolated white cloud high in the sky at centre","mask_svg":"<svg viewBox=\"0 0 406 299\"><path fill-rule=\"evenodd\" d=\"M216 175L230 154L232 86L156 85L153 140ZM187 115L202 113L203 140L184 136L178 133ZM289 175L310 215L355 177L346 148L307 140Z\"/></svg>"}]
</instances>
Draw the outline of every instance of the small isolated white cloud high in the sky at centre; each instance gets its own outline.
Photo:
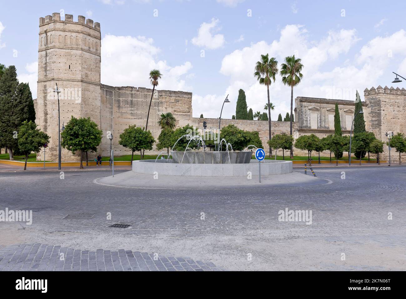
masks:
<instances>
[{"instance_id":1,"label":"small isolated white cloud high in the sky at centre","mask_svg":"<svg viewBox=\"0 0 406 299\"><path fill-rule=\"evenodd\" d=\"M218 31L218 19L212 19L210 23L204 22L200 25L199 34L197 37L192 38L192 44L199 47L204 47L206 49L217 49L222 47L225 44L224 35L222 34L212 34L213 31Z\"/></svg>"}]
</instances>

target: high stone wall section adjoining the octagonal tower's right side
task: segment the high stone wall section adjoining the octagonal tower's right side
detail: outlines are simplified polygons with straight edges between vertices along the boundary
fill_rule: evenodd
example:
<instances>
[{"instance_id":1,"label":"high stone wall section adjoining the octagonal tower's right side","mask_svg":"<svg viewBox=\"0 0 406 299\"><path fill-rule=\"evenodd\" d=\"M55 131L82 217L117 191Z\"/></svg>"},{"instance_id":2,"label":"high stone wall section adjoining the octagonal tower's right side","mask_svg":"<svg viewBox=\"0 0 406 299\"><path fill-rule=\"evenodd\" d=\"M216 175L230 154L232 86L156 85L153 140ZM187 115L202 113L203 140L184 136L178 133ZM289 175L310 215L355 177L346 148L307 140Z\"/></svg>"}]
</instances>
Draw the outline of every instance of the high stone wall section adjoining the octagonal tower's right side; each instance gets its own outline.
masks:
<instances>
[{"instance_id":1,"label":"high stone wall section adjoining the octagonal tower's right side","mask_svg":"<svg viewBox=\"0 0 406 299\"><path fill-rule=\"evenodd\" d=\"M106 133L111 130L113 133L112 145L115 155L131 154L131 151L118 144L119 135L128 128L129 125L144 128L147 120L149 102L151 100L152 89L144 87L111 87L101 85L101 123L102 130ZM192 93L184 91L154 91L151 110L149 113L148 130L158 141L161 132L158 119L162 113L171 112L177 119L176 126L185 126L192 119ZM104 134L104 137L106 134ZM102 138L101 154L108 156L110 150L110 140ZM146 154L158 153L155 150L146 151ZM136 153L138 154L138 153Z\"/></svg>"}]
</instances>

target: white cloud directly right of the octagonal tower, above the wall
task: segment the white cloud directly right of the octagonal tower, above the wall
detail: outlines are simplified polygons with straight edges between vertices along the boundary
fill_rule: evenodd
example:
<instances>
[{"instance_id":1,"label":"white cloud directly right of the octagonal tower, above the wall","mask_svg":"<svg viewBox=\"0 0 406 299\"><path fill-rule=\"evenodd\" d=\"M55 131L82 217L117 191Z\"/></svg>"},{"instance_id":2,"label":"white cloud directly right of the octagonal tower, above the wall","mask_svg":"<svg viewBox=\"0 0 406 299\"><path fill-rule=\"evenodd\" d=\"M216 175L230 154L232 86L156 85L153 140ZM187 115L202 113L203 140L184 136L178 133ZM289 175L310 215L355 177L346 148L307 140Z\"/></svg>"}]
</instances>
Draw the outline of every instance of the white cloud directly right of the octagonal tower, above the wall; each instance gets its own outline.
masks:
<instances>
[{"instance_id":1,"label":"white cloud directly right of the octagonal tower, above the wall","mask_svg":"<svg viewBox=\"0 0 406 299\"><path fill-rule=\"evenodd\" d=\"M186 76L192 64L170 66L156 58L160 49L153 45L153 39L146 37L106 35L102 39L103 84L112 86L150 87L149 71L159 69L163 74L158 89L191 91Z\"/></svg>"}]
</instances>

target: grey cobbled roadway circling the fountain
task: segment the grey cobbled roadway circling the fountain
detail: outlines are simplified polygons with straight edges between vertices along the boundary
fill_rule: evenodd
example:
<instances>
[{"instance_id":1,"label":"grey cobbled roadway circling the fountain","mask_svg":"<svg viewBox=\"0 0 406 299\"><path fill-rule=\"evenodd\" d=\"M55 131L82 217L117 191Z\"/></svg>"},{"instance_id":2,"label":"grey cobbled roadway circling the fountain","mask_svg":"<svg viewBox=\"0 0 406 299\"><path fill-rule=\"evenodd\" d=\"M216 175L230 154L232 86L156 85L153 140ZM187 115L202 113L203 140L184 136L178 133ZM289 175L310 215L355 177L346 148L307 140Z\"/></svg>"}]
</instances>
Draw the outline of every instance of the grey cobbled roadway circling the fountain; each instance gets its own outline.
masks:
<instances>
[{"instance_id":1,"label":"grey cobbled roadway circling the fountain","mask_svg":"<svg viewBox=\"0 0 406 299\"><path fill-rule=\"evenodd\" d=\"M292 260L309 270L405 270L406 167L339 166L316 174L332 183L157 190L94 184L110 175L101 170L65 171L63 180L58 171L2 172L0 210L32 210L33 223L20 223L25 229L17 230L16 224L0 222L0 233L9 232L0 238L0 249L41 243L97 255L98 248L125 248L190 256L231 270L287 270ZM312 225L278 221L285 208L312 210ZM129 227L110 228L113 223Z\"/></svg>"}]
</instances>

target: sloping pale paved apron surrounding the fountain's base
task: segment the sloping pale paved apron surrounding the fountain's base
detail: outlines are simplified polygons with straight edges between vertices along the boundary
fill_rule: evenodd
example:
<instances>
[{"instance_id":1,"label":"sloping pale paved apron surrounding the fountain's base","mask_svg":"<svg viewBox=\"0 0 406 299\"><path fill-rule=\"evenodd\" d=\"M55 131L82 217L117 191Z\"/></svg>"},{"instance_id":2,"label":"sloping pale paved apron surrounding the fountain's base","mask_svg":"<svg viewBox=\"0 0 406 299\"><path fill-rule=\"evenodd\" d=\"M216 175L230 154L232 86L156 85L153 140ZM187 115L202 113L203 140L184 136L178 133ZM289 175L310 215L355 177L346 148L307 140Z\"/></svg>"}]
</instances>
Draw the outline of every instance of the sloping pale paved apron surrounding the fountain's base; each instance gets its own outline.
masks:
<instances>
[{"instance_id":1,"label":"sloping pale paved apron surrounding the fountain's base","mask_svg":"<svg viewBox=\"0 0 406 299\"><path fill-rule=\"evenodd\" d=\"M155 176L153 174L126 171L114 176L94 180L96 184L129 188L153 189L238 189L238 188L275 188L304 187L329 184L330 181L304 175L298 172L281 175L252 176L251 180L240 177L192 177L192 176Z\"/></svg>"}]
</instances>

